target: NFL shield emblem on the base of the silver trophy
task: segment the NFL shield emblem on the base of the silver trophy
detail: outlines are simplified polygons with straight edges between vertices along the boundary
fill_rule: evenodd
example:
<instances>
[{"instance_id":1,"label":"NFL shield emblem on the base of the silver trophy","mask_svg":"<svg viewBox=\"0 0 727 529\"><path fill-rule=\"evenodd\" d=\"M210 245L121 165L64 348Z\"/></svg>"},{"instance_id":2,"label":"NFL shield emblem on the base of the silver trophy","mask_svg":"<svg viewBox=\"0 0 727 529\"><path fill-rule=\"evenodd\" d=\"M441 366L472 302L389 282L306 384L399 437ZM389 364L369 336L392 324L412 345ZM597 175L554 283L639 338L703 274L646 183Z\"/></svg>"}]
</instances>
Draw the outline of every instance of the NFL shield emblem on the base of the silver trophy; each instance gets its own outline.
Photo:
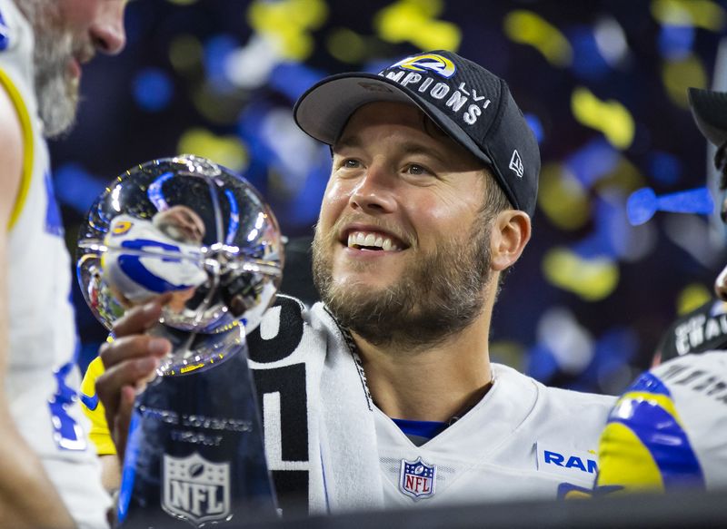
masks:
<instances>
[{"instance_id":1,"label":"NFL shield emblem on the base of the silver trophy","mask_svg":"<svg viewBox=\"0 0 727 529\"><path fill-rule=\"evenodd\" d=\"M230 514L230 465L164 454L162 508L199 527Z\"/></svg>"}]
</instances>

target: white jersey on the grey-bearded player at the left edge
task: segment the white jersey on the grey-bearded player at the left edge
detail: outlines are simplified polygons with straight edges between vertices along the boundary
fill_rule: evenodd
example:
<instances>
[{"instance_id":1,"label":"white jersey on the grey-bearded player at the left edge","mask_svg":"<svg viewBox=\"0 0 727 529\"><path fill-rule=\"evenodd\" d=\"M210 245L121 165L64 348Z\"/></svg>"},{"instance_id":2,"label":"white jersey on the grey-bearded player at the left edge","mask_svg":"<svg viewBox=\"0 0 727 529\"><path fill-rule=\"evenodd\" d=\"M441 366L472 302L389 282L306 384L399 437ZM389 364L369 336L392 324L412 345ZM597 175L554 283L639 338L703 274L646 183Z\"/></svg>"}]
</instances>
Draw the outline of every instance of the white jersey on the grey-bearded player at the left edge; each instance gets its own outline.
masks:
<instances>
[{"instance_id":1,"label":"white jersey on the grey-bearded player at the left edge","mask_svg":"<svg viewBox=\"0 0 727 529\"><path fill-rule=\"evenodd\" d=\"M34 37L12 0L0 0L0 89L22 124L23 178L8 242L10 351L5 391L15 422L82 527L105 527L110 499L77 405L71 262L38 118Z\"/></svg>"}]
</instances>

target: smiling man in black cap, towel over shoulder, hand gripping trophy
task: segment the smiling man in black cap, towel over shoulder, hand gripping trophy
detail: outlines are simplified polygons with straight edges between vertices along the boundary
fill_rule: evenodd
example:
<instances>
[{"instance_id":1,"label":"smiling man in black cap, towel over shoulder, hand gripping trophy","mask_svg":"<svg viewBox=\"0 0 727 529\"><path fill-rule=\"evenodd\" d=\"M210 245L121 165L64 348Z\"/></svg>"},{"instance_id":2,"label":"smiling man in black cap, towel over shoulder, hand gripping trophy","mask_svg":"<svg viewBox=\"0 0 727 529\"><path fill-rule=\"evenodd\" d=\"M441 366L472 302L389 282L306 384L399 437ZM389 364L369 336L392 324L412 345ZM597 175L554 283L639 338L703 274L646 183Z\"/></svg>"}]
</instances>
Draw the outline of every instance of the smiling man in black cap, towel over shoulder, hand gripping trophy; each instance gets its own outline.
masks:
<instances>
[{"instance_id":1,"label":"smiling man in black cap, towel over shoulder, hand gripping trophy","mask_svg":"<svg viewBox=\"0 0 727 529\"><path fill-rule=\"evenodd\" d=\"M294 116L333 152L314 238L323 303L280 297L248 335L284 507L290 494L338 512L592 485L612 397L490 362L493 305L530 239L540 170L507 84L436 51L324 79ZM159 311L130 312L102 352L96 389L120 453L134 384L156 365L134 333Z\"/></svg>"}]
</instances>

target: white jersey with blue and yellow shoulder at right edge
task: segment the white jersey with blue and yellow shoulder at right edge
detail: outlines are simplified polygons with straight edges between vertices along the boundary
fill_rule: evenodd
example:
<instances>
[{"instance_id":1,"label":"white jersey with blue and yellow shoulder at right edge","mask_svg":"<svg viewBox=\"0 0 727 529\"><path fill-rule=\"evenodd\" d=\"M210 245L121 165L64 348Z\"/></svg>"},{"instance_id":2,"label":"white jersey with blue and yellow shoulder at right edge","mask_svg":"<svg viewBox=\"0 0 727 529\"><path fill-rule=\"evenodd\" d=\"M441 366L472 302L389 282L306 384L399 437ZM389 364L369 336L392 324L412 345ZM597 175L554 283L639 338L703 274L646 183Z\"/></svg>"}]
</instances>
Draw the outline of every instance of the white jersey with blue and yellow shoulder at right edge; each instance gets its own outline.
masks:
<instances>
[{"instance_id":1,"label":"white jersey with blue and yellow shoulder at right edge","mask_svg":"<svg viewBox=\"0 0 727 529\"><path fill-rule=\"evenodd\" d=\"M596 493L727 484L727 354L675 358L643 374L613 407Z\"/></svg>"}]
</instances>

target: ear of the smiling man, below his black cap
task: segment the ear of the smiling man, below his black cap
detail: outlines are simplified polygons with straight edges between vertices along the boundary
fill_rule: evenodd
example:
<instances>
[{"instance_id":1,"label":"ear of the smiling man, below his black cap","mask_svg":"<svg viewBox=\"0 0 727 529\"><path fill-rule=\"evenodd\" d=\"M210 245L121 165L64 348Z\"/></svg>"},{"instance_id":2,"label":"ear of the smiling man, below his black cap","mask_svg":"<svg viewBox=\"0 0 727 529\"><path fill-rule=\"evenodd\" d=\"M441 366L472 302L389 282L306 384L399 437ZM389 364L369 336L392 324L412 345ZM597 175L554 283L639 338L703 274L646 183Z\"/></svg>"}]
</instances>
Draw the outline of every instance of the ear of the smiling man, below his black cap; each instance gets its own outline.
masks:
<instances>
[{"instance_id":1,"label":"ear of the smiling man, below his black cap","mask_svg":"<svg viewBox=\"0 0 727 529\"><path fill-rule=\"evenodd\" d=\"M530 216L524 211L500 211L490 234L491 267L502 271L520 259L530 240Z\"/></svg>"}]
</instances>

